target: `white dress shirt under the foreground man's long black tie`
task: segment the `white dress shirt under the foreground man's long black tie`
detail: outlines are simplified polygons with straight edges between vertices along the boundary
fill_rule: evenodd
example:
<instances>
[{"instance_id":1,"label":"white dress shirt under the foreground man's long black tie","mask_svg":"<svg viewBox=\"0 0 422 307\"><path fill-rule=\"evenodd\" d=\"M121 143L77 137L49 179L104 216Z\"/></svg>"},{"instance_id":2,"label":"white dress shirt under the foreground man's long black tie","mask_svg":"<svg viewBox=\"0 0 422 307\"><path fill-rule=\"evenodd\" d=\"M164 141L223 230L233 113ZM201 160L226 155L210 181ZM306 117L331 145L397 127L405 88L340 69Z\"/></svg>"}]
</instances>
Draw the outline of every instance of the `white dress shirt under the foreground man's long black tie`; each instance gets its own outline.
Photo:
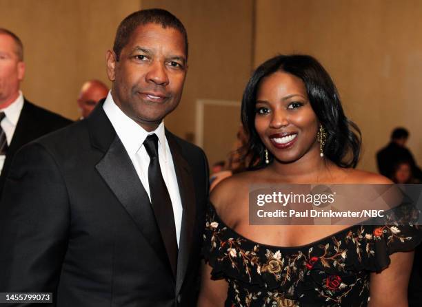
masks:
<instances>
[{"instance_id":1,"label":"white dress shirt under the foreground man's long black tie","mask_svg":"<svg viewBox=\"0 0 422 307\"><path fill-rule=\"evenodd\" d=\"M168 146L167 138L165 138L164 123L161 122L159 127L157 127L154 131L145 131L145 129L135 123L134 120L125 115L121 109L117 107L116 103L114 103L111 92L108 92L106 101L104 101L103 109L112 123L117 136L119 136L123 146L128 152L134 169L137 171L139 179L141 180L145 191L148 193L150 200L150 184L148 183L148 166L150 165L150 156L148 156L148 153L143 146L143 141L149 134L157 134L159 139L158 151L161 173L163 174L165 185L167 186L170 199L172 200L177 245L179 245L183 207L181 204L179 185L177 184L172 154L170 152L170 147ZM139 205L141 206L142 204Z\"/></svg>"}]
</instances>

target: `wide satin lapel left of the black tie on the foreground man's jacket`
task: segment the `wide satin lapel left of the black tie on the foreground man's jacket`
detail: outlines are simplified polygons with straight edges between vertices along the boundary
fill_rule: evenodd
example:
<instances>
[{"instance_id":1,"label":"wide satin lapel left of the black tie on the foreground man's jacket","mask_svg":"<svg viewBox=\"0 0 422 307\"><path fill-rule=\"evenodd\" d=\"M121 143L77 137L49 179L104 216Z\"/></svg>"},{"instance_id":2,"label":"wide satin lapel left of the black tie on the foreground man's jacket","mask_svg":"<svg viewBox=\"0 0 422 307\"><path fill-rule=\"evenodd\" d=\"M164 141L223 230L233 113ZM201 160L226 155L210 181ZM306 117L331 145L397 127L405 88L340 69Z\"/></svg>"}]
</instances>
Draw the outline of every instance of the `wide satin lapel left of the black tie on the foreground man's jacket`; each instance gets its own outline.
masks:
<instances>
[{"instance_id":1,"label":"wide satin lapel left of the black tie on the foreground man's jacket","mask_svg":"<svg viewBox=\"0 0 422 307\"><path fill-rule=\"evenodd\" d=\"M148 194L117 135L96 168L119 202L128 211L141 233L157 252L157 256L163 263L170 266Z\"/></svg>"}]
</instances>

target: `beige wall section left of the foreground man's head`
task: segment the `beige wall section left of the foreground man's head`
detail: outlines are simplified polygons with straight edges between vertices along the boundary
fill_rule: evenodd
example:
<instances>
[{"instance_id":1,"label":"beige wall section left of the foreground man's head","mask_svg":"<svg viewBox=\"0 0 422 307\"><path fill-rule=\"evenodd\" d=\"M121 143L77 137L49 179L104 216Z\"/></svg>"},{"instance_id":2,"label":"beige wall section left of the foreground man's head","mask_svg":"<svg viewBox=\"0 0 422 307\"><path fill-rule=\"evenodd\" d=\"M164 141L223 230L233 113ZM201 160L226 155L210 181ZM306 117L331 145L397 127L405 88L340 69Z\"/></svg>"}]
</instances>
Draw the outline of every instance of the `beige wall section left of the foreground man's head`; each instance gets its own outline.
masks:
<instances>
[{"instance_id":1,"label":"beige wall section left of the foreground man's head","mask_svg":"<svg viewBox=\"0 0 422 307\"><path fill-rule=\"evenodd\" d=\"M90 78L108 82L106 50L120 21L140 0L0 0L0 27L23 41L23 94L37 105L76 119L77 96Z\"/></svg>"}]
</instances>

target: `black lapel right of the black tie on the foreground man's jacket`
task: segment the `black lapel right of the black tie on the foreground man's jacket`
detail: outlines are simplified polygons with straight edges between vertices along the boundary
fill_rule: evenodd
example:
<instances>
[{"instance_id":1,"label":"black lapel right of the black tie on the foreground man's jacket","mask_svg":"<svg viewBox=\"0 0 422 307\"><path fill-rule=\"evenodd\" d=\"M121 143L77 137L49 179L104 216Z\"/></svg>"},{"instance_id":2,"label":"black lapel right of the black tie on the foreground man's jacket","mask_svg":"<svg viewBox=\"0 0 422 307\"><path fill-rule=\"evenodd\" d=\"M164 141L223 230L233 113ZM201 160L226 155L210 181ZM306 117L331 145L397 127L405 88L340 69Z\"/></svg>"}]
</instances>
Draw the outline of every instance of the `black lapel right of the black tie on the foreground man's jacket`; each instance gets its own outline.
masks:
<instances>
[{"instance_id":1,"label":"black lapel right of the black tie on the foreground man's jacket","mask_svg":"<svg viewBox=\"0 0 422 307\"><path fill-rule=\"evenodd\" d=\"M188 268L190 248L192 247L192 235L196 215L196 200L192 173L188 162L181 155L181 147L168 131L166 131L165 136L167 137L170 151L172 153L174 169L177 176L177 184L179 185L179 193L183 207L176 279L176 293L179 293L186 274L186 269Z\"/></svg>"}]
</instances>

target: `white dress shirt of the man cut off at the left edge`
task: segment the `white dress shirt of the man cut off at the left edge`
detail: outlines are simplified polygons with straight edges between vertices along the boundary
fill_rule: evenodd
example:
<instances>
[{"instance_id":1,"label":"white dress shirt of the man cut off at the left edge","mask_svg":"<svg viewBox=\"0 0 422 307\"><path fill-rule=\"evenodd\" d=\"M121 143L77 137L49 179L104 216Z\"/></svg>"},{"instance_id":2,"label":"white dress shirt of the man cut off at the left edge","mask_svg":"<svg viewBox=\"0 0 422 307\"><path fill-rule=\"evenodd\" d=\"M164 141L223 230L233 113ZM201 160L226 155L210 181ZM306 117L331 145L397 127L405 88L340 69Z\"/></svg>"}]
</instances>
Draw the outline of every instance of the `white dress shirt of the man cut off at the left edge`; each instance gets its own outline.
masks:
<instances>
[{"instance_id":1,"label":"white dress shirt of the man cut off at the left edge","mask_svg":"<svg viewBox=\"0 0 422 307\"><path fill-rule=\"evenodd\" d=\"M6 115L3 120L1 120L1 128L3 129L4 133L6 134L6 139L8 140L8 145L10 146L10 142L12 142L12 137L14 134L14 130L16 129L17 122L19 120L19 116L21 115L23 107L23 95L22 92L19 91L19 96L14 100L12 104L4 109L0 109L0 112L4 112ZM4 160L6 160L6 156L0 155L0 171L3 169Z\"/></svg>"}]
</instances>

